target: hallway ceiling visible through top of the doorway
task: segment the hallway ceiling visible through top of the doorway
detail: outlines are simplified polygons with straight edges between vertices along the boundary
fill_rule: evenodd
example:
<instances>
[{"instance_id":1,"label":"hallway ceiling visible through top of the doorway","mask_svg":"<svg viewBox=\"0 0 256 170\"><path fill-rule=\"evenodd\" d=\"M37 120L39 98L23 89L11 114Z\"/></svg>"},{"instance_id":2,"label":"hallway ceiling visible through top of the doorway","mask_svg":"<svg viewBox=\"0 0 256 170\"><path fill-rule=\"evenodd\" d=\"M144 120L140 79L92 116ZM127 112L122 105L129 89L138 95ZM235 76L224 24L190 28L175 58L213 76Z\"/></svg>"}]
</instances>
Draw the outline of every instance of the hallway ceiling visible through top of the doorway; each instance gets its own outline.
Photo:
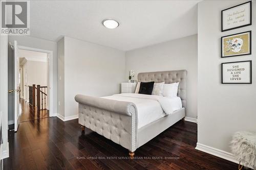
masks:
<instances>
[{"instance_id":1,"label":"hallway ceiling visible through top of the doorway","mask_svg":"<svg viewBox=\"0 0 256 170\"><path fill-rule=\"evenodd\" d=\"M34 52L28 50L18 50L18 56L20 58L20 63L23 63L24 59L30 61L41 61L47 62L47 53Z\"/></svg>"}]
</instances>

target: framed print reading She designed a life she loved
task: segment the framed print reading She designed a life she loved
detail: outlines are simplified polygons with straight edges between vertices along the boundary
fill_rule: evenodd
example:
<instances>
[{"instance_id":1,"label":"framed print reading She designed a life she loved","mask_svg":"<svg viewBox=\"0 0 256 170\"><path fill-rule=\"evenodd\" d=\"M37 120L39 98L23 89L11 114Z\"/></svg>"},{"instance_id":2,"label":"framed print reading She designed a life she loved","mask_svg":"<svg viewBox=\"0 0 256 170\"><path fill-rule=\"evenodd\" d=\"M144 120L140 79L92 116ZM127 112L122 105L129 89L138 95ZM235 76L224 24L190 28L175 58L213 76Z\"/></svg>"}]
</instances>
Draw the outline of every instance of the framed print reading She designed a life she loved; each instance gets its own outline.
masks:
<instances>
[{"instance_id":1,"label":"framed print reading She designed a life she loved","mask_svg":"<svg viewBox=\"0 0 256 170\"><path fill-rule=\"evenodd\" d=\"M222 84L251 84L251 60L222 63Z\"/></svg>"}]
</instances>

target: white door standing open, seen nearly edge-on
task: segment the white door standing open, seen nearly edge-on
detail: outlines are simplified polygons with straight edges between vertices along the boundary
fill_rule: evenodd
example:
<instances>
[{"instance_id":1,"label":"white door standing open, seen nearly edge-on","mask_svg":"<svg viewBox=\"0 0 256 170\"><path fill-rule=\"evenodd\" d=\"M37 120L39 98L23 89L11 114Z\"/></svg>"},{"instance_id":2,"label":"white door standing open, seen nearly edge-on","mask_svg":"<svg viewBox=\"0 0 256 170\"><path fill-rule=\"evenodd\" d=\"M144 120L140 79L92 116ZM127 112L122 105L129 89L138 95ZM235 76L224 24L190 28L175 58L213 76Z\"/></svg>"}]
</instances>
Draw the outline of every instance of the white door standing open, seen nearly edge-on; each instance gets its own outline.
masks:
<instances>
[{"instance_id":1,"label":"white door standing open, seen nearly edge-on","mask_svg":"<svg viewBox=\"0 0 256 170\"><path fill-rule=\"evenodd\" d=\"M14 41L14 131L17 132L19 125L19 56L18 44Z\"/></svg>"}]
</instances>

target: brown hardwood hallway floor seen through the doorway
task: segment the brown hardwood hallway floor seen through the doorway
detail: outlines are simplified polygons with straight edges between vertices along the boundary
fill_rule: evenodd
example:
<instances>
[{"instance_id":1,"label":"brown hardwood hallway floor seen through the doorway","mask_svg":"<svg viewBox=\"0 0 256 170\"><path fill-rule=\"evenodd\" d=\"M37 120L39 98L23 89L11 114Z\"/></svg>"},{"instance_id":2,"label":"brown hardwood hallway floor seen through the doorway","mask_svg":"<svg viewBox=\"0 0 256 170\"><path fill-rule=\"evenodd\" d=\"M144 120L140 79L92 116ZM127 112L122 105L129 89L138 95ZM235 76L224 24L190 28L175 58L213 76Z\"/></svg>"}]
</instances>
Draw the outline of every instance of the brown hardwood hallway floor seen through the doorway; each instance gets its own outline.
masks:
<instances>
[{"instance_id":1,"label":"brown hardwood hallway floor seen through the doorway","mask_svg":"<svg viewBox=\"0 0 256 170\"><path fill-rule=\"evenodd\" d=\"M34 109L24 99L19 100L19 112L19 122L49 117L49 110L37 111L37 109Z\"/></svg>"}]
</instances>

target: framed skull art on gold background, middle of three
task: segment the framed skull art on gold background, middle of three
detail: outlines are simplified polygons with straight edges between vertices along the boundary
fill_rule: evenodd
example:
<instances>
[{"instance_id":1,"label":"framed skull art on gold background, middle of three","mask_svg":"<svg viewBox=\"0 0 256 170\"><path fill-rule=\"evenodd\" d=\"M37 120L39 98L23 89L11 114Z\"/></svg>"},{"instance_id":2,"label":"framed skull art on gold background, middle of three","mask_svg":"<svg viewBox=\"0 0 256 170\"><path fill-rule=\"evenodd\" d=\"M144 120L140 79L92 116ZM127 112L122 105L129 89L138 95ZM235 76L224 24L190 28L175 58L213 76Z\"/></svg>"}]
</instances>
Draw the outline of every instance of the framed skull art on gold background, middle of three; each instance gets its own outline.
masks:
<instances>
[{"instance_id":1,"label":"framed skull art on gold background, middle of three","mask_svg":"<svg viewBox=\"0 0 256 170\"><path fill-rule=\"evenodd\" d=\"M221 57L251 54L251 31L221 37Z\"/></svg>"}]
</instances>

